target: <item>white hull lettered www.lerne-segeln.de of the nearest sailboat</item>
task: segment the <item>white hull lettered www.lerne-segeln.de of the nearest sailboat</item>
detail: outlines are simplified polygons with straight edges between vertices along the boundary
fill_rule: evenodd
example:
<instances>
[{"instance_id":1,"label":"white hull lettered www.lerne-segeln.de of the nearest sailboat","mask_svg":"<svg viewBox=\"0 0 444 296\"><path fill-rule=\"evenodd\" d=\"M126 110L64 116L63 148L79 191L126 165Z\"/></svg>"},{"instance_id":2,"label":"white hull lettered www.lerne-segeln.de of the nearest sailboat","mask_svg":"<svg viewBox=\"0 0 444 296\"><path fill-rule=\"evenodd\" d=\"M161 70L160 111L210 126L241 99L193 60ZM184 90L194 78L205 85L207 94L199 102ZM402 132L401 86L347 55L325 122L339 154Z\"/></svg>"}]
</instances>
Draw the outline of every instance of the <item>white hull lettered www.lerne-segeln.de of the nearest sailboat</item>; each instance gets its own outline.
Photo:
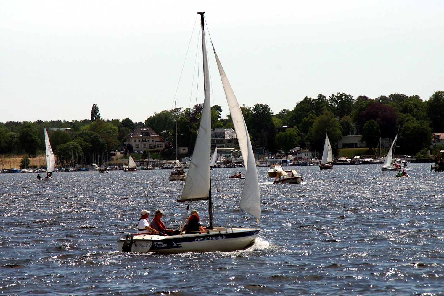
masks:
<instances>
[{"instance_id":1,"label":"white hull lettered www.lerne-segeln.de of the nearest sailboat","mask_svg":"<svg viewBox=\"0 0 444 296\"><path fill-rule=\"evenodd\" d=\"M230 252L245 249L251 245L260 228L215 227L210 233L183 234L169 237L152 234L135 234L133 240L127 236L126 251L137 253L186 253L186 252ZM123 251L125 239L117 241L119 250ZM129 248L131 247L131 248Z\"/></svg>"}]
</instances>

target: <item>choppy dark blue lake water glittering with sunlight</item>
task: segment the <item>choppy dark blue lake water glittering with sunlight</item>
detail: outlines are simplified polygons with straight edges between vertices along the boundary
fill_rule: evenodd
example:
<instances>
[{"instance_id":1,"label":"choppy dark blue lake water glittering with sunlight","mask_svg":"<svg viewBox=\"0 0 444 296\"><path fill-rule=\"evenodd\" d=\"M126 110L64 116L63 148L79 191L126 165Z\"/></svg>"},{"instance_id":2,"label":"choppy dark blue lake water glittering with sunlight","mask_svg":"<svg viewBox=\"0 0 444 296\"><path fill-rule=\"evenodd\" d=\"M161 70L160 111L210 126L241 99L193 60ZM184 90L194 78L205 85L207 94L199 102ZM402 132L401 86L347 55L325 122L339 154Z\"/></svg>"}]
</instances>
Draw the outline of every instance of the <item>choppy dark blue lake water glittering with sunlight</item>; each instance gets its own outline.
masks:
<instances>
[{"instance_id":1,"label":"choppy dark blue lake water glittering with sunlight","mask_svg":"<svg viewBox=\"0 0 444 296\"><path fill-rule=\"evenodd\" d=\"M440 295L444 174L409 164L293 167L304 182L273 184L259 167L258 239L234 252L122 253L141 209L174 228L186 204L168 170L1 174L0 292L6 295ZM242 175L245 169L240 168ZM214 225L254 227L239 209L243 180L211 171ZM206 201L197 201L202 224ZM152 216L150 216L150 219Z\"/></svg>"}]
</instances>

